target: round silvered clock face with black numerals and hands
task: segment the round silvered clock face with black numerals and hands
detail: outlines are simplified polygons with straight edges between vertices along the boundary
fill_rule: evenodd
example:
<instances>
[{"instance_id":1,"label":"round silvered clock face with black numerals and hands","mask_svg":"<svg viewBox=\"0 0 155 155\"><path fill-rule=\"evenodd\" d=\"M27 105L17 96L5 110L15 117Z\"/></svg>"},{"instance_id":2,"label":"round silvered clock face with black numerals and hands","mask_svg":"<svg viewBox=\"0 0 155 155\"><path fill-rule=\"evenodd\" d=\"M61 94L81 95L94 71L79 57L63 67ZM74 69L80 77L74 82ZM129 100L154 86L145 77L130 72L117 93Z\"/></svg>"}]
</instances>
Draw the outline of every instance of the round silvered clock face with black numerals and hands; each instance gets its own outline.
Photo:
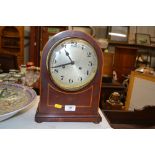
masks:
<instances>
[{"instance_id":1,"label":"round silvered clock face with black numerals and hands","mask_svg":"<svg viewBox=\"0 0 155 155\"><path fill-rule=\"evenodd\" d=\"M95 49L87 41L67 38L53 46L47 68L54 83L69 91L79 90L94 78L98 67Z\"/></svg>"}]
</instances>

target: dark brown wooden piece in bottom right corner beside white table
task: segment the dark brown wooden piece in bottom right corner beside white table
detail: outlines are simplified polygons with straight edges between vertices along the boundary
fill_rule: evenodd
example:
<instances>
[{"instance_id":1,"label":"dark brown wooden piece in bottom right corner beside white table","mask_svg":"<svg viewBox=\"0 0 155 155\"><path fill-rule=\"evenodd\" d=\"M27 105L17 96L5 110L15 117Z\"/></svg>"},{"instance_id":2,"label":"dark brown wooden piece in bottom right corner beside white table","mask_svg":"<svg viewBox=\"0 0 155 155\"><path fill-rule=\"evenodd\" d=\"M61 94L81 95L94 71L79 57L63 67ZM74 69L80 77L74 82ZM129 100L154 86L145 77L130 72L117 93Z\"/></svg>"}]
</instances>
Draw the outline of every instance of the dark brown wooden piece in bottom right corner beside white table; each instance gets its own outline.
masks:
<instances>
[{"instance_id":1,"label":"dark brown wooden piece in bottom right corner beside white table","mask_svg":"<svg viewBox=\"0 0 155 155\"><path fill-rule=\"evenodd\" d=\"M134 111L104 110L103 114L114 129L155 128L154 106Z\"/></svg>"}]
</instances>

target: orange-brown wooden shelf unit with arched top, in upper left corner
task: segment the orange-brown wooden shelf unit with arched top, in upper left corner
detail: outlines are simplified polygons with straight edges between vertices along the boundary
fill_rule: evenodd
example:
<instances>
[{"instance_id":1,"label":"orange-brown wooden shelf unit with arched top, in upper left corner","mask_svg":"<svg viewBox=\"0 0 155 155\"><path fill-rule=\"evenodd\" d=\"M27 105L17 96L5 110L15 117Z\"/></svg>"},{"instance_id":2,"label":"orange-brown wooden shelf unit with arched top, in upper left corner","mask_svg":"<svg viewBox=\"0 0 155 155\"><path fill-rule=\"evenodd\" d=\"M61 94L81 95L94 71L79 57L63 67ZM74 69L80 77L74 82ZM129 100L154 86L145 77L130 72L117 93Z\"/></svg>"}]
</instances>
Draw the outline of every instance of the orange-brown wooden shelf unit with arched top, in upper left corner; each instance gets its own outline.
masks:
<instances>
[{"instance_id":1,"label":"orange-brown wooden shelf unit with arched top, in upper left corner","mask_svg":"<svg viewBox=\"0 0 155 155\"><path fill-rule=\"evenodd\" d=\"M0 27L0 53L14 55L18 66L24 63L24 27Z\"/></svg>"}]
</instances>

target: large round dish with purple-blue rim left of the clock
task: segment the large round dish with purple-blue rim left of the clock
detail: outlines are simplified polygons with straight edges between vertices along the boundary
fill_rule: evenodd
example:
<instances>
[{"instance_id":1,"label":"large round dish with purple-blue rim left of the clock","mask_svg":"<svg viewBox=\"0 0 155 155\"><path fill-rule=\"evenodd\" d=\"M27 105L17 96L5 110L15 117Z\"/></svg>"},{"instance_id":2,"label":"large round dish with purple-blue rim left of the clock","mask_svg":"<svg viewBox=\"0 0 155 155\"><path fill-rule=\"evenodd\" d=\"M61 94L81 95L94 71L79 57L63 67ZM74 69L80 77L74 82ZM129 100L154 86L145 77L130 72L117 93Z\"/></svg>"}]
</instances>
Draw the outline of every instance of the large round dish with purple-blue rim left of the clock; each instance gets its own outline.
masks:
<instances>
[{"instance_id":1,"label":"large round dish with purple-blue rim left of the clock","mask_svg":"<svg viewBox=\"0 0 155 155\"><path fill-rule=\"evenodd\" d=\"M36 98L33 89L19 84L0 84L0 121L25 110Z\"/></svg>"}]
</instances>

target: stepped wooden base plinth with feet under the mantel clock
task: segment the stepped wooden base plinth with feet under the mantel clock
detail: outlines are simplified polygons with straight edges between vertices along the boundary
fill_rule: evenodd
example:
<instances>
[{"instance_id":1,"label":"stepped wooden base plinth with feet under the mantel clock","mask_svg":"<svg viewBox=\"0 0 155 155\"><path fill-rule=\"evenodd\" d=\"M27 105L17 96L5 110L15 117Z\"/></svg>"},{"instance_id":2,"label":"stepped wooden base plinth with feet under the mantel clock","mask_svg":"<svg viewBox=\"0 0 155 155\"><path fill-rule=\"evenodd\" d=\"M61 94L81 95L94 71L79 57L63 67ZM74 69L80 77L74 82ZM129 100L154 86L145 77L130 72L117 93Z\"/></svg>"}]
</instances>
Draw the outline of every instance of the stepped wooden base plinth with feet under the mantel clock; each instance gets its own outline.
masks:
<instances>
[{"instance_id":1,"label":"stepped wooden base plinth with feet under the mantel clock","mask_svg":"<svg viewBox=\"0 0 155 155\"><path fill-rule=\"evenodd\" d=\"M35 115L35 121L37 123L42 122L93 122L98 124L102 121L100 114L97 115L51 115L51 114L41 114L39 112Z\"/></svg>"}]
</instances>

